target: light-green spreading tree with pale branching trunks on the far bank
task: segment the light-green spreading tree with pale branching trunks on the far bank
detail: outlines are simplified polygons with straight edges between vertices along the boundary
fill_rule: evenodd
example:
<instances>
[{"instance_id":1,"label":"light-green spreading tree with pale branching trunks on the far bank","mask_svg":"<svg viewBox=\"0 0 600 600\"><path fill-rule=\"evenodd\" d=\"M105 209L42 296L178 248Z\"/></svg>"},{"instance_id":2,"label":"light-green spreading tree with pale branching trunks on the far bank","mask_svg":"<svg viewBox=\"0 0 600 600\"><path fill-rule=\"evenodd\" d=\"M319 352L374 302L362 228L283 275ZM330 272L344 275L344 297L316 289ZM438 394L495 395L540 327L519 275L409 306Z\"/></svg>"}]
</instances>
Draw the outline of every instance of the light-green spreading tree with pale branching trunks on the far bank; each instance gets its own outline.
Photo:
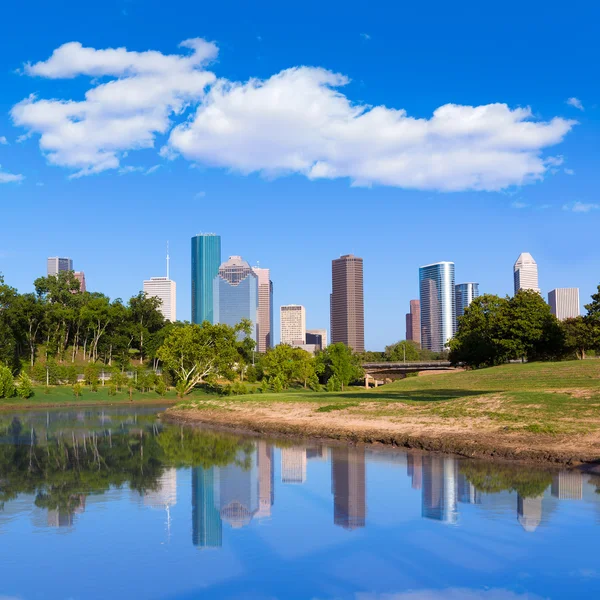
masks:
<instances>
[{"instance_id":1,"label":"light-green spreading tree with pale branching trunks on the far bank","mask_svg":"<svg viewBox=\"0 0 600 600\"><path fill-rule=\"evenodd\" d=\"M239 359L238 334L242 333L250 335L248 323L184 325L169 333L157 356L182 384L178 389L189 394L195 386L217 377L233 380Z\"/></svg>"}]
</instances>

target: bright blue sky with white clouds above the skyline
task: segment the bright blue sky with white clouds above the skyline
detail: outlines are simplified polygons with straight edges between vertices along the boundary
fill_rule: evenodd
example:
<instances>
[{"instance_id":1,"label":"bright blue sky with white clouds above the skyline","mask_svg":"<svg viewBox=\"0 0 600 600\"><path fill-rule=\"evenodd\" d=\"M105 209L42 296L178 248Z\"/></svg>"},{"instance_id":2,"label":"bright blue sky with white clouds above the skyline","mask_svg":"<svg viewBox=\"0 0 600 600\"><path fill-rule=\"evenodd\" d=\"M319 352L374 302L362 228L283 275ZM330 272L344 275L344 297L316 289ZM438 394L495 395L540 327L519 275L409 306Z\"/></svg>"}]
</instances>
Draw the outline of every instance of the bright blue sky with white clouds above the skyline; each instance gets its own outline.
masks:
<instances>
[{"instance_id":1,"label":"bright blue sky with white clouds above the skyline","mask_svg":"<svg viewBox=\"0 0 600 600\"><path fill-rule=\"evenodd\" d=\"M12 3L0 272L26 291L47 256L71 256L89 289L127 298L163 274L169 240L187 319L190 237L216 232L224 259L270 267L275 305L304 304L318 328L331 259L352 252L369 349L404 337L418 267L439 260L506 294L528 251L545 293L579 287L587 301L600 283L599 13Z\"/></svg>"}]
</instances>

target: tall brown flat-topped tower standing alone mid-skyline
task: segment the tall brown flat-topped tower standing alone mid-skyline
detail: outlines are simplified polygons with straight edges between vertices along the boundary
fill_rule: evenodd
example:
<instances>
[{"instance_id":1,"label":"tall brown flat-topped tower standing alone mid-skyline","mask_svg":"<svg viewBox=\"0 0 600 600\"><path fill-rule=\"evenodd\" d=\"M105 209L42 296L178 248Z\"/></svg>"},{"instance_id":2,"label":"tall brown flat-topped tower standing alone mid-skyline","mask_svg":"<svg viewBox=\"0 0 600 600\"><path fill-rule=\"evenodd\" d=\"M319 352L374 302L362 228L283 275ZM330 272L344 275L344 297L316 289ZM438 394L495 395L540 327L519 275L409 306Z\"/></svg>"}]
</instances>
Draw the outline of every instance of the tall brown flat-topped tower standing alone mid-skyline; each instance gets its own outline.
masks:
<instances>
[{"instance_id":1,"label":"tall brown flat-topped tower standing alone mid-skyline","mask_svg":"<svg viewBox=\"0 0 600 600\"><path fill-rule=\"evenodd\" d=\"M331 343L365 350L363 260L346 254L331 262Z\"/></svg>"}]
</instances>

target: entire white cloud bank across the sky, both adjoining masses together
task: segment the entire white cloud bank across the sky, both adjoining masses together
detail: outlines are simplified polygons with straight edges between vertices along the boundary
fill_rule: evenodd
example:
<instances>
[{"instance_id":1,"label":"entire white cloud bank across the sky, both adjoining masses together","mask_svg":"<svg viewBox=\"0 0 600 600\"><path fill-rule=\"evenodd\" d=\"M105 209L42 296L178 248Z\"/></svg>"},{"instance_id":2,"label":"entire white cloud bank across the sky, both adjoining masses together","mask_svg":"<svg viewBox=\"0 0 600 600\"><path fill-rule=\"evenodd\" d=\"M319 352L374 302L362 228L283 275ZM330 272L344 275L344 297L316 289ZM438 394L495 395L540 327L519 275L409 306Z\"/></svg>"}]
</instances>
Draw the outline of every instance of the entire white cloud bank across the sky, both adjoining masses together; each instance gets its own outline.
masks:
<instances>
[{"instance_id":1,"label":"entire white cloud bank across the sky, both adjoining masses together","mask_svg":"<svg viewBox=\"0 0 600 600\"><path fill-rule=\"evenodd\" d=\"M165 55L70 43L24 72L46 78L109 78L85 100L34 96L12 109L15 124L40 134L48 160L87 175L120 167L125 152L153 147L170 131L164 156L178 154L242 173L348 178L354 185L433 190L499 190L544 176L547 149L575 121L533 118L505 104L441 106L429 118L354 104L343 75L299 67L267 80L216 79L206 71L214 44L182 44ZM174 124L185 108L190 119Z\"/></svg>"}]
</instances>

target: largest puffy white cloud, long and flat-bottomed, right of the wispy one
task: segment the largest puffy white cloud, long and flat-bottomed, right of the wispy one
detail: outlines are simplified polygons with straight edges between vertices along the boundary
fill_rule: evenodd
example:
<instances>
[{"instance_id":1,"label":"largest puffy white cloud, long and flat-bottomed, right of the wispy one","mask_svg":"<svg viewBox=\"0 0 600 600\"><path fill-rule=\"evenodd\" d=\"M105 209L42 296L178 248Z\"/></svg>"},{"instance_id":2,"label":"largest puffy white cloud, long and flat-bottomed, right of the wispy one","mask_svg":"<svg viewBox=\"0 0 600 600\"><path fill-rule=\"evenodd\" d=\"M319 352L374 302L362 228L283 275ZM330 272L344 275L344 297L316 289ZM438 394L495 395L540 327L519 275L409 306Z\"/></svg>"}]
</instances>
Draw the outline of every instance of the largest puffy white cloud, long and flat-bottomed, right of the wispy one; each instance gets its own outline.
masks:
<instances>
[{"instance_id":1,"label":"largest puffy white cloud, long and flat-bottomed, right of the wispy one","mask_svg":"<svg viewBox=\"0 0 600 600\"><path fill-rule=\"evenodd\" d=\"M353 104L342 75L300 67L266 81L219 80L193 119L171 132L171 151L213 166L355 185L430 190L500 190L541 179L575 124L532 119L505 104L438 108L429 119L385 106ZM549 160L549 162L548 162Z\"/></svg>"}]
</instances>

